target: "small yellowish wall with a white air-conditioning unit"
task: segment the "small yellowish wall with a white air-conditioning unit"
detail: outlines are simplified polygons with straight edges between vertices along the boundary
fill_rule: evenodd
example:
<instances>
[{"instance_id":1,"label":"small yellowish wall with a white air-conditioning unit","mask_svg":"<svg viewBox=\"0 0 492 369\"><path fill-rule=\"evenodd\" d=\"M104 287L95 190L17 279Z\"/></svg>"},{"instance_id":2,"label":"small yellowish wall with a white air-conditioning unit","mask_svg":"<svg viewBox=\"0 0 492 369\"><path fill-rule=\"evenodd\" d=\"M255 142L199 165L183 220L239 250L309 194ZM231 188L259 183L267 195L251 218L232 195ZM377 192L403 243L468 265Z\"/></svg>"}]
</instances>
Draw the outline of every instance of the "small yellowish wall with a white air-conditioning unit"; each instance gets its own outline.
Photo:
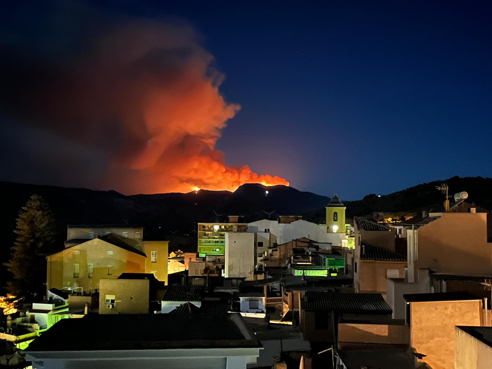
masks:
<instances>
[{"instance_id":1,"label":"small yellowish wall with a white air-conditioning unit","mask_svg":"<svg viewBox=\"0 0 492 369\"><path fill-rule=\"evenodd\" d=\"M108 309L106 295L115 295ZM101 279L99 314L144 314L149 312L149 279Z\"/></svg>"}]
</instances>

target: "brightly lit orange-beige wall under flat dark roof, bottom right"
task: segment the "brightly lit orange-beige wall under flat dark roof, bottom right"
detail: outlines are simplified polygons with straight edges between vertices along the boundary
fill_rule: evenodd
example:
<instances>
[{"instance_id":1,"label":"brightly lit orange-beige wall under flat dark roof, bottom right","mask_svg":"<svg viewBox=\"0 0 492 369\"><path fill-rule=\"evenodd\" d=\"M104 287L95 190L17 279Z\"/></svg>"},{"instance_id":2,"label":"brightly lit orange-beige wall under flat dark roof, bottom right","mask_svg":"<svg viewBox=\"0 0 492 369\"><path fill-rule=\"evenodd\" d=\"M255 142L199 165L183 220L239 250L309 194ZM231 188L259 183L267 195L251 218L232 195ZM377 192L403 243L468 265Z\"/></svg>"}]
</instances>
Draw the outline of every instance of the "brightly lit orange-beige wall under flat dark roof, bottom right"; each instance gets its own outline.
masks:
<instances>
[{"instance_id":1,"label":"brightly lit orange-beige wall under flat dark roof, bottom right","mask_svg":"<svg viewBox=\"0 0 492 369\"><path fill-rule=\"evenodd\" d=\"M456 325L481 324L481 300L410 303L410 345L432 369L453 368Z\"/></svg>"}]
</instances>

